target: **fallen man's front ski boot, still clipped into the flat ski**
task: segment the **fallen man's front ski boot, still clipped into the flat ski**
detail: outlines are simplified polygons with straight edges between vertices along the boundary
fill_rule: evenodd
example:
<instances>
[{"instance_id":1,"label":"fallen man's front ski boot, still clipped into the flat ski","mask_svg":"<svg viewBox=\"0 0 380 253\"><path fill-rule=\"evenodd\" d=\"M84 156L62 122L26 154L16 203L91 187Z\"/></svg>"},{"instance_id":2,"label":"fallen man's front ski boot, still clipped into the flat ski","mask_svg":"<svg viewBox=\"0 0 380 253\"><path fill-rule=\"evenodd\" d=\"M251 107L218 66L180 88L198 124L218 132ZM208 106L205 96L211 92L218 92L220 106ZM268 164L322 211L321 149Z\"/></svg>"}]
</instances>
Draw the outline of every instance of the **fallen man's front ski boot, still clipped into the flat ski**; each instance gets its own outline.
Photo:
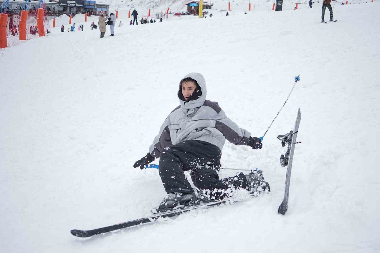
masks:
<instances>
[{"instance_id":1,"label":"fallen man's front ski boot, still clipped into the flat ski","mask_svg":"<svg viewBox=\"0 0 380 253\"><path fill-rule=\"evenodd\" d=\"M152 213L162 213L180 209L181 207L192 206L197 202L198 198L194 193L174 192L168 193L159 206L151 210Z\"/></svg>"}]
</instances>

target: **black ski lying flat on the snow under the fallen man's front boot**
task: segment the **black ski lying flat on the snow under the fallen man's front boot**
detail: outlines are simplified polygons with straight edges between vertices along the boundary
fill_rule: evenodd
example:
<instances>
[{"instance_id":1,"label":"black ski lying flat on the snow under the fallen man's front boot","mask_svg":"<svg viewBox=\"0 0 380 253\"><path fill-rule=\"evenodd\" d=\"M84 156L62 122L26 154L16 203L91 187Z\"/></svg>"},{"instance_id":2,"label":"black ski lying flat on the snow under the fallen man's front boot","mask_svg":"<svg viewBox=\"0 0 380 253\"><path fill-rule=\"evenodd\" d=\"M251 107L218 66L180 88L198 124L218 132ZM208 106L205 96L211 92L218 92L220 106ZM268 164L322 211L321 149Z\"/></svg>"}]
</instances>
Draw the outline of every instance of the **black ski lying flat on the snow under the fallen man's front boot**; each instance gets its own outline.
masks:
<instances>
[{"instance_id":1,"label":"black ski lying flat on the snow under the fallen man's front boot","mask_svg":"<svg viewBox=\"0 0 380 253\"><path fill-rule=\"evenodd\" d=\"M96 234L103 234L106 232L111 232L117 229L122 229L122 228L129 228L132 226L144 224L144 223L149 223L158 220L159 218L166 218L166 217L174 217L177 215L180 215L181 213L189 212L191 210L195 210L198 208L206 208L206 207L211 207L211 206L219 206L220 204L225 203L226 200L222 201L216 201L216 202L208 202L205 204L199 204L197 206L192 206L192 207L184 207L182 209L176 209L170 212L165 212L165 213L157 213L156 215L152 215L146 218L140 218L137 220L131 220L131 221L126 221L123 223L119 223L116 225L111 225L111 226L106 226L104 228L97 228L97 229L92 229L92 230L78 230L78 229L73 229L71 230L71 234L73 236L78 236L78 237L90 237Z\"/></svg>"}]
</instances>

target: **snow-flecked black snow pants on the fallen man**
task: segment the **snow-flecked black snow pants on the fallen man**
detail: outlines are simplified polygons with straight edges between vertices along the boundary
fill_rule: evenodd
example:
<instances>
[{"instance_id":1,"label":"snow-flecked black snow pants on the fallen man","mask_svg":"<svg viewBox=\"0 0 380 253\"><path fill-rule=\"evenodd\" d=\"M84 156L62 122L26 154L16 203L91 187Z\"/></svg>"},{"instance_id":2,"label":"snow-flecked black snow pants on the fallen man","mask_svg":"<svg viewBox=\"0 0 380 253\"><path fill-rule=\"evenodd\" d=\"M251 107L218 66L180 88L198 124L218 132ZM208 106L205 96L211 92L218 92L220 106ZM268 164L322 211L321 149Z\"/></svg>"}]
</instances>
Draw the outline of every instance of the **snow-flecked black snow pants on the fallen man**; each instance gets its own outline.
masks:
<instances>
[{"instance_id":1,"label":"snow-flecked black snow pants on the fallen man","mask_svg":"<svg viewBox=\"0 0 380 253\"><path fill-rule=\"evenodd\" d=\"M190 176L195 187L203 190L213 199L231 195L233 189L248 189L249 184L243 173L219 180L221 150L205 141L183 141L162 150L159 173L166 193L192 193L184 171L191 170Z\"/></svg>"}]
</instances>

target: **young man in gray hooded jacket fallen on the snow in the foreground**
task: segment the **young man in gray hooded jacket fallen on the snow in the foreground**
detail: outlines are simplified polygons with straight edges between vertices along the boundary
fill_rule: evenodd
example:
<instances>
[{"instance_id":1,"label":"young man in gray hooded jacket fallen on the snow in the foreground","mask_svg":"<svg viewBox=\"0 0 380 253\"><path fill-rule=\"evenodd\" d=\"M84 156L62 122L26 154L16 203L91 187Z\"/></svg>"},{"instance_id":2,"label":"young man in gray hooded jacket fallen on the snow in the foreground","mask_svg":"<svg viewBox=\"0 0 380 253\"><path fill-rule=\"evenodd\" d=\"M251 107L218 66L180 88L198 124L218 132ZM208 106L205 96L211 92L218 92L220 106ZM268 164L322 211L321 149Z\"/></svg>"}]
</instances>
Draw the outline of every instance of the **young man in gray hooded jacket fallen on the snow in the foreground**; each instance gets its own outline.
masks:
<instances>
[{"instance_id":1,"label":"young man in gray hooded jacket fallen on the snow in the foreground","mask_svg":"<svg viewBox=\"0 0 380 253\"><path fill-rule=\"evenodd\" d=\"M261 171L219 180L217 170L225 139L235 145L261 149L261 140L251 137L229 119L217 102L206 100L206 81L199 73L187 74L179 82L180 106L166 118L145 157L134 168L160 157L159 174L168 195L152 212L166 212L180 206L228 198L233 191L244 188L256 196L269 192ZM190 170L195 190L184 171Z\"/></svg>"}]
</instances>

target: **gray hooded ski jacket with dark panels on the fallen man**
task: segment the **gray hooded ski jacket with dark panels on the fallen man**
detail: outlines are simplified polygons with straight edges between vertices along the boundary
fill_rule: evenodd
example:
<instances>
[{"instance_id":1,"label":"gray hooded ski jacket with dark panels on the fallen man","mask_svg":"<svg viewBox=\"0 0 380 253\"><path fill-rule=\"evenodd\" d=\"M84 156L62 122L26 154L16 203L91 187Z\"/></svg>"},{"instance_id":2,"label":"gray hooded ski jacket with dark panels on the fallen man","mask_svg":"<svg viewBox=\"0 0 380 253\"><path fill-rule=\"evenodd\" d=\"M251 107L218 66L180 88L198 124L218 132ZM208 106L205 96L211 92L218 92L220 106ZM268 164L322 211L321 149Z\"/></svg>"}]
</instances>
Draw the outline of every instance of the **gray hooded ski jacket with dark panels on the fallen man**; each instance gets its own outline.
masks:
<instances>
[{"instance_id":1,"label":"gray hooded ski jacket with dark panels on the fallen man","mask_svg":"<svg viewBox=\"0 0 380 253\"><path fill-rule=\"evenodd\" d=\"M158 135L149 147L152 157L160 157L165 147L170 147L182 141L199 140L216 145L223 149L225 140L235 145L244 145L248 142L250 133L239 128L217 102L206 100L206 81L199 73L187 74L198 82L202 95L196 100L179 100L180 106L175 108L161 125ZM181 92L181 85L179 85Z\"/></svg>"}]
</instances>

